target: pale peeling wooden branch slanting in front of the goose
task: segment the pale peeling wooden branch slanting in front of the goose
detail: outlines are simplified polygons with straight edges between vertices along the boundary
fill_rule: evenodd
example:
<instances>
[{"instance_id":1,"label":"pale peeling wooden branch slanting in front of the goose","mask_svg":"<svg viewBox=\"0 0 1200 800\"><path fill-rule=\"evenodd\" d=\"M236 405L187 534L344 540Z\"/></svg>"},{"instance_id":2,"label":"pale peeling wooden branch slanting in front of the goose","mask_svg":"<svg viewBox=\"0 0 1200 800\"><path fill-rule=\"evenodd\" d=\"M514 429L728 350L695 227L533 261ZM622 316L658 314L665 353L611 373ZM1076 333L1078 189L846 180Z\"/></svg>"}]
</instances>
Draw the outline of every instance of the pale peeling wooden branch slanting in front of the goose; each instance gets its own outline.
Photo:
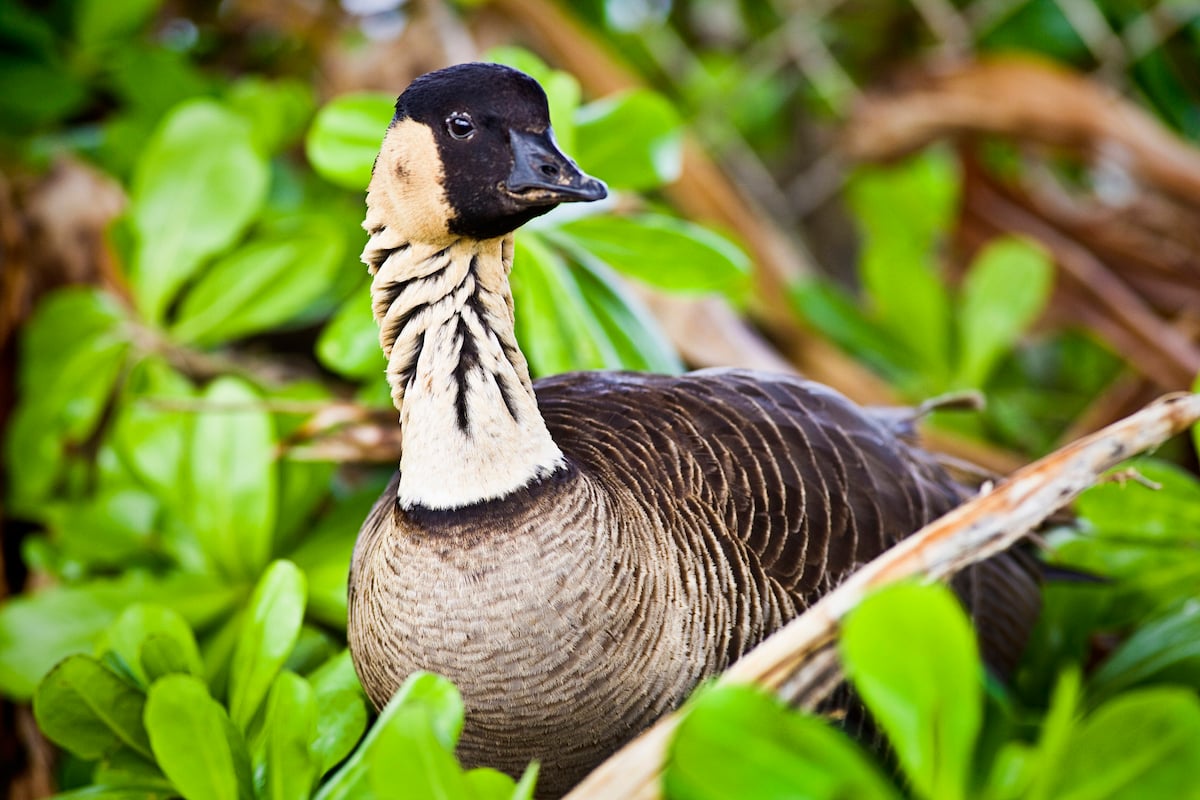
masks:
<instances>
[{"instance_id":1,"label":"pale peeling wooden branch slanting in front of the goose","mask_svg":"<svg viewBox=\"0 0 1200 800\"><path fill-rule=\"evenodd\" d=\"M964 567L1010 547L1046 517L1088 488L1105 470L1200 421L1200 395L1168 395L1090 437L1074 441L1009 476L988 494L959 506L854 572L803 615L738 661L718 682L758 684L780 690L800 669L828 674L830 644L842 618L878 587L904 578L947 579ZM568 800L649 799L660 776L672 714L601 764Z\"/></svg>"}]
</instances>

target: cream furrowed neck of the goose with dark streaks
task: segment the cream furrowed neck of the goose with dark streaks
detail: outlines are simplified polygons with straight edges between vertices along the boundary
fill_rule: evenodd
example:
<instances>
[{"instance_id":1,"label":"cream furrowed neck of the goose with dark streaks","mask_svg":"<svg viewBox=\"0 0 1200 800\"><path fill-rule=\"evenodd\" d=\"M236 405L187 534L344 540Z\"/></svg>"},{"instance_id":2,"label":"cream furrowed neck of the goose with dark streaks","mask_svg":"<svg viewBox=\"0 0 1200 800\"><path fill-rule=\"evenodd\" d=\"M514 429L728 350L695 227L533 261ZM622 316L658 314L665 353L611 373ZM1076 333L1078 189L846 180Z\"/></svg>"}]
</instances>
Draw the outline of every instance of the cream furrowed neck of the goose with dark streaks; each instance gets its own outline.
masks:
<instances>
[{"instance_id":1,"label":"cream furrowed neck of the goose with dark streaks","mask_svg":"<svg viewBox=\"0 0 1200 800\"><path fill-rule=\"evenodd\" d=\"M516 343L512 236L420 245L383 229L362 258L400 410L401 505L475 505L562 469Z\"/></svg>"}]
</instances>

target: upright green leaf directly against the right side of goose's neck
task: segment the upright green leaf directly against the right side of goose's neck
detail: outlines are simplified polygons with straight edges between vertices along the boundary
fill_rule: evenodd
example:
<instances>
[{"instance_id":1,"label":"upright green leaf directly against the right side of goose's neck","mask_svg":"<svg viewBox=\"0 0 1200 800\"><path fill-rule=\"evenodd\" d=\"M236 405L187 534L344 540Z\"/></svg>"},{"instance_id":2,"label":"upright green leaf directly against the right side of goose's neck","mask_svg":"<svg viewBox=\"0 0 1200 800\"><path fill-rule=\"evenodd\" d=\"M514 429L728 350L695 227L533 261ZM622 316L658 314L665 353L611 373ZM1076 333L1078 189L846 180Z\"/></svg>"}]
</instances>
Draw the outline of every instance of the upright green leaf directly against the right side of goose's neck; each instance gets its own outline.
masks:
<instances>
[{"instance_id":1,"label":"upright green leaf directly against the right side of goose's neck","mask_svg":"<svg viewBox=\"0 0 1200 800\"><path fill-rule=\"evenodd\" d=\"M566 263L539 235L517 236L511 285L517 338L535 374L618 363Z\"/></svg>"}]
</instances>

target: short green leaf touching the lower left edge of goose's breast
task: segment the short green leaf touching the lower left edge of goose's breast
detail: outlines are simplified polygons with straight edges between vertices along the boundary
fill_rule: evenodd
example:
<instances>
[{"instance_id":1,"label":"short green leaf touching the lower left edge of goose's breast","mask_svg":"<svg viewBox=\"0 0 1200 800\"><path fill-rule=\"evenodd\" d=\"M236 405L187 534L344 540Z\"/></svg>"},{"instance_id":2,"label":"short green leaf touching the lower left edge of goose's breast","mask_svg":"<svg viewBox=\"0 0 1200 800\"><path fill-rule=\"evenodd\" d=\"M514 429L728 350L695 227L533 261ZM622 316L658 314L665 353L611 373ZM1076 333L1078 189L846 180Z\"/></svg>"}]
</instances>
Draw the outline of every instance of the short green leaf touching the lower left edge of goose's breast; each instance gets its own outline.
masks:
<instances>
[{"instance_id":1,"label":"short green leaf touching the lower left edge of goose's breast","mask_svg":"<svg viewBox=\"0 0 1200 800\"><path fill-rule=\"evenodd\" d=\"M366 697L359 686L349 650L330 658L308 676L317 697L317 727L310 750L324 775L346 758L367 728Z\"/></svg>"}]
</instances>

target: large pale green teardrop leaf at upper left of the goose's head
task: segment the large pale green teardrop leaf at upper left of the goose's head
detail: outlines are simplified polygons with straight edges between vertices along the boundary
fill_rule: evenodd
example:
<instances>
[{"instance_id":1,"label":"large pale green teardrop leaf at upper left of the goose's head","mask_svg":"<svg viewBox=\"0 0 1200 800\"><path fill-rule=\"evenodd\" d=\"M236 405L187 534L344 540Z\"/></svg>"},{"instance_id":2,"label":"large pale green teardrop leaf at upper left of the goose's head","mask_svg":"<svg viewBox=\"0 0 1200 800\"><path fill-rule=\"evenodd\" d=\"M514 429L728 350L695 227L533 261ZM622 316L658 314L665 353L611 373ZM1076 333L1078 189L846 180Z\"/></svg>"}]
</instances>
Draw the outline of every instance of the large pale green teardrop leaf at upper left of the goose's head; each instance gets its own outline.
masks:
<instances>
[{"instance_id":1,"label":"large pale green teardrop leaf at upper left of the goose's head","mask_svg":"<svg viewBox=\"0 0 1200 800\"><path fill-rule=\"evenodd\" d=\"M138 307L162 320L200 264L245 230L266 194L268 168L246 122L210 100L176 106L133 173L130 217L138 247Z\"/></svg>"}]
</instances>

